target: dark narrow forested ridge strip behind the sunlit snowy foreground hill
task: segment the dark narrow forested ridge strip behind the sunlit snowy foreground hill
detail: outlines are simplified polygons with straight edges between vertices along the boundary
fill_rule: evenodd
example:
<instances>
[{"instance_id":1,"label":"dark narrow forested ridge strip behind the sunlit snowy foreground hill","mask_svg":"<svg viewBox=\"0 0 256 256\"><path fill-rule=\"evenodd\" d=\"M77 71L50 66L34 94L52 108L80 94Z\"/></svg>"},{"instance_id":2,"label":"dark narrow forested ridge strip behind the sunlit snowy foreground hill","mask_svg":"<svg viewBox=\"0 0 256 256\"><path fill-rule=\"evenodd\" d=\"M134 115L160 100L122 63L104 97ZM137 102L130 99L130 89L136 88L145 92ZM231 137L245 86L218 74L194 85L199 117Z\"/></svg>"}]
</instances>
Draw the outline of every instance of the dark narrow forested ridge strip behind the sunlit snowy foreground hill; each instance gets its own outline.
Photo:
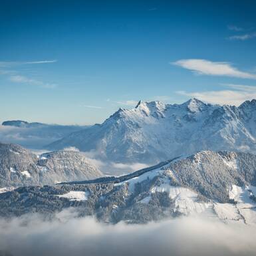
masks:
<instances>
[{"instance_id":1,"label":"dark narrow forested ridge strip behind the sunlit snowy foreground hill","mask_svg":"<svg viewBox=\"0 0 256 256\"><path fill-rule=\"evenodd\" d=\"M124 176L108 176L108 177L102 177L102 178L97 178L94 180L84 180L81 182L60 182L57 183L56 185L76 185L76 184L97 184L97 183L108 183L108 182L113 182L113 183L119 183L119 182L125 182L126 180L130 180L132 178L136 178L138 176L141 176L142 174L145 174L146 172L150 172L152 170L161 168L162 166L166 166L166 164L170 164L174 160L177 160L180 158L180 156L177 156L176 158L172 158L171 160L167 160L164 162L160 162L159 164L156 164L155 166L150 166L148 168L143 168L140 169L136 172L132 172L132 174L126 174Z\"/></svg>"}]
</instances>

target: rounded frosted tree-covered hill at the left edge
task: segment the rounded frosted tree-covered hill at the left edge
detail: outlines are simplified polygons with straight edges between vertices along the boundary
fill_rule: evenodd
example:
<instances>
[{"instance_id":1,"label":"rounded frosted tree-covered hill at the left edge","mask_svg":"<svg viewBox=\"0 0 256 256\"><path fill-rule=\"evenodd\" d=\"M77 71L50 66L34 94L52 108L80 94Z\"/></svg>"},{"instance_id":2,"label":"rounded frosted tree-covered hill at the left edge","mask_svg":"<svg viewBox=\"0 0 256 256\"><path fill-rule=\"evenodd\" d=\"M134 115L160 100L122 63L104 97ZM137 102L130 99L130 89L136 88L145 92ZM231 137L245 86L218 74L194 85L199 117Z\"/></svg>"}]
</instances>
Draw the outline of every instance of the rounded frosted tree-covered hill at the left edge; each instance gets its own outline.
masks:
<instances>
[{"instance_id":1,"label":"rounded frosted tree-covered hill at the left edge","mask_svg":"<svg viewBox=\"0 0 256 256\"><path fill-rule=\"evenodd\" d=\"M0 188L91 180L103 174L80 152L35 155L15 144L0 143Z\"/></svg>"}]
</instances>

